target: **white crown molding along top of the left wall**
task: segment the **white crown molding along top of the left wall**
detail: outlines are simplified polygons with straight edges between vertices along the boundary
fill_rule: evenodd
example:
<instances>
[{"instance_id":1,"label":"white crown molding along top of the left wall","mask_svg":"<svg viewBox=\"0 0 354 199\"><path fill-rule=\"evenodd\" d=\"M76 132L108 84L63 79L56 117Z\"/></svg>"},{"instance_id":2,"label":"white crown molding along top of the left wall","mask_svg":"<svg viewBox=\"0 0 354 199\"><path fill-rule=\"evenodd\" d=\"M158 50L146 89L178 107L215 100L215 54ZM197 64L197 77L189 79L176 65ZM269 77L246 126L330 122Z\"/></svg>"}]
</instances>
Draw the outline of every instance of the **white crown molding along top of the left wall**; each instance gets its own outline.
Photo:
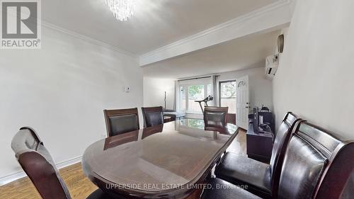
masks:
<instances>
[{"instance_id":1,"label":"white crown molding along top of the left wall","mask_svg":"<svg viewBox=\"0 0 354 199\"><path fill-rule=\"evenodd\" d=\"M41 21L40 24L42 25L42 27L50 28L52 30L56 30L56 31L58 31L60 33L64 33L64 34L70 35L70 36L72 36L74 38L79 38L79 39L84 40L86 42L91 42L91 43L93 43L95 45L100 45L101 47L105 47L105 48L107 48L109 50L114 50L116 52L122 53L124 55L128 55L130 57L135 57L135 58L138 57L137 55L133 54L132 52L128 52L126 50L122 50L119 47L115 47L114 45L110 45L110 44L108 44L106 42L101 42L99 40L95 40L95 39L87 37L85 35L81 35L80 33L76 33L76 32L74 32L72 30L67 30L65 28L59 27L59 26L54 25L52 23L48 23L46 21Z\"/></svg>"}]
</instances>

